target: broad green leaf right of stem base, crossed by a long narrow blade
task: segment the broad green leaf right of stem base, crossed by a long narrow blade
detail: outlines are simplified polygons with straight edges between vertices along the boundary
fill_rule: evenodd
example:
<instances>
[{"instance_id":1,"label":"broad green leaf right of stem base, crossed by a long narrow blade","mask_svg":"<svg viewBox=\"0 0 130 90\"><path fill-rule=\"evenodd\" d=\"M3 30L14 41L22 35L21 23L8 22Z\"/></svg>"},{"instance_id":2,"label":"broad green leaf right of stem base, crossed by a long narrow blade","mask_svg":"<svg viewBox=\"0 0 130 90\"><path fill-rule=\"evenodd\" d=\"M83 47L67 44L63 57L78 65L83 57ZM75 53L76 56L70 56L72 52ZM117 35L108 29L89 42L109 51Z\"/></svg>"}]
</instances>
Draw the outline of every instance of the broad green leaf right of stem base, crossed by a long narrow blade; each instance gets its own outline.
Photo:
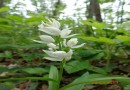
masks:
<instances>
[{"instance_id":1,"label":"broad green leaf right of stem base, crossed by a long narrow blade","mask_svg":"<svg viewBox=\"0 0 130 90\"><path fill-rule=\"evenodd\" d=\"M82 82L82 81L87 81L89 74L85 73L83 74L81 77L77 78L76 80L74 80L71 84L73 83L78 83L78 82ZM69 88L66 88L64 90L82 90L82 88L84 87L85 84L79 84L79 85L75 85Z\"/></svg>"}]
</instances>

